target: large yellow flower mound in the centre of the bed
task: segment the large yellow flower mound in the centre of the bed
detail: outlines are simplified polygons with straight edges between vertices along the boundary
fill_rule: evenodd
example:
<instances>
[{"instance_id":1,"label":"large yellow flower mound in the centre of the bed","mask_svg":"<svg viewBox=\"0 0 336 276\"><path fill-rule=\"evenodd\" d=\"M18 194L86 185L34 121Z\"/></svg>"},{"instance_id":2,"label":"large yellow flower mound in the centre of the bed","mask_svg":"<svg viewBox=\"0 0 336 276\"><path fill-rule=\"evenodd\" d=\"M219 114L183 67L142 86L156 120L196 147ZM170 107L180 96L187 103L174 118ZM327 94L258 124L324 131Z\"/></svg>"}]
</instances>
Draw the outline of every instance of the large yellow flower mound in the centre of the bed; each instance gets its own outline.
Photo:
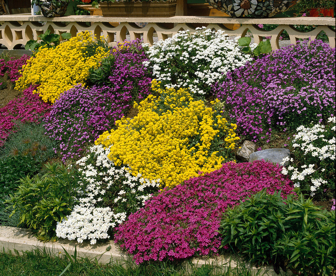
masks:
<instances>
[{"instance_id":1,"label":"large yellow flower mound in the centre of the bed","mask_svg":"<svg viewBox=\"0 0 336 276\"><path fill-rule=\"evenodd\" d=\"M134 103L138 115L117 121L117 129L104 132L95 143L109 147L109 158L116 165L128 165L134 176L140 173L143 178L160 179L162 187L173 188L200 171L221 167L225 158L210 151L219 134L226 132L225 147L229 148L239 137L234 133L237 126L215 116L212 108L193 100L185 89L158 86L154 80L152 88L160 97L149 95L139 105Z\"/></svg>"}]
</instances>

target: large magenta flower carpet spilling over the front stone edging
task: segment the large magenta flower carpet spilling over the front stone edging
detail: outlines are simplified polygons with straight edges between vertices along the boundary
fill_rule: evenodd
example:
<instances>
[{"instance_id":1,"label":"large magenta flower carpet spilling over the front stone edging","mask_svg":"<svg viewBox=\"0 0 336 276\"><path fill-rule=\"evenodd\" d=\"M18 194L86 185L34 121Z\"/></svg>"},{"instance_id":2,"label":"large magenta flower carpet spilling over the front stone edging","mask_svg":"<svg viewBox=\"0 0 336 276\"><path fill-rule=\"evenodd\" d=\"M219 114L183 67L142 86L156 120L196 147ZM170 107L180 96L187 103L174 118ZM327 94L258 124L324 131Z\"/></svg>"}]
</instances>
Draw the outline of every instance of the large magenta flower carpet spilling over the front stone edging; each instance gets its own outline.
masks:
<instances>
[{"instance_id":1,"label":"large magenta flower carpet spilling over the front stone edging","mask_svg":"<svg viewBox=\"0 0 336 276\"><path fill-rule=\"evenodd\" d=\"M115 240L136 263L217 254L217 230L227 208L263 188L269 193L281 189L285 197L292 192L291 184L280 165L228 162L149 199L117 228Z\"/></svg>"}]
</instances>

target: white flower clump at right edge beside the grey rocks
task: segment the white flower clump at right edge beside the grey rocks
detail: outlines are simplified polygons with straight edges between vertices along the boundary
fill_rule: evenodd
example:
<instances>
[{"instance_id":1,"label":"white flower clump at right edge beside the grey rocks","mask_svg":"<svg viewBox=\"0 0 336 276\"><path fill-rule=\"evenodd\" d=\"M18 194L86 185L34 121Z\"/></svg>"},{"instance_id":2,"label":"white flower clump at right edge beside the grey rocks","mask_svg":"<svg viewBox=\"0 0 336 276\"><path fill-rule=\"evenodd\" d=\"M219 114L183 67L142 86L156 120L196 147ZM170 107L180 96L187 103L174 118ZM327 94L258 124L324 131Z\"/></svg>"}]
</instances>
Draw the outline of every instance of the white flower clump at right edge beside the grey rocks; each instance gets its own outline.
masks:
<instances>
[{"instance_id":1,"label":"white flower clump at right edge beside the grey rocks","mask_svg":"<svg viewBox=\"0 0 336 276\"><path fill-rule=\"evenodd\" d=\"M329 118L328 123L334 124L331 130L335 132L335 117ZM296 130L298 134L293 138L294 148L301 150L303 155L311 154L312 157L316 157L319 160L329 159L330 162L334 162L332 160L335 160L335 137L329 140L324 138L327 134L325 126L320 124L316 124L310 128L300 126ZM284 165L288 161L293 164L294 160L293 158L286 157L283 159L281 165ZM300 168L292 165L283 167L281 173L290 176L290 179L295 182L294 187L301 187L303 181L309 181L310 179L310 195L313 196L322 184L328 183L326 180L318 177L324 171L325 169L320 169L317 164L304 164ZM318 174L315 174L315 172L318 172Z\"/></svg>"}]
</instances>

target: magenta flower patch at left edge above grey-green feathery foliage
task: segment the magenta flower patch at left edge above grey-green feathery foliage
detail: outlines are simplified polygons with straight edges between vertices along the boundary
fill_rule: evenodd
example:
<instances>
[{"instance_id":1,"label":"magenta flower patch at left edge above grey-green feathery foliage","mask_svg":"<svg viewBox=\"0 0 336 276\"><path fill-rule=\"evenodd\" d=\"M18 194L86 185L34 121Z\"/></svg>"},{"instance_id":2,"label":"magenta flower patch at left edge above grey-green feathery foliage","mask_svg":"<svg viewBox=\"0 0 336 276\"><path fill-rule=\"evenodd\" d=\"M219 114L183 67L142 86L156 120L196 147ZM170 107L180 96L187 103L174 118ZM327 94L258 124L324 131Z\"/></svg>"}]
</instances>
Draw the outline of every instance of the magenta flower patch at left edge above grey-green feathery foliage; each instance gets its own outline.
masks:
<instances>
[{"instance_id":1,"label":"magenta flower patch at left edge above grey-green feathery foliage","mask_svg":"<svg viewBox=\"0 0 336 276\"><path fill-rule=\"evenodd\" d=\"M37 122L49 113L51 105L43 102L39 94L33 94L35 88L36 86L30 86L23 91L22 96L12 99L6 106L0 108L0 146L14 131L17 121Z\"/></svg>"}]
</instances>

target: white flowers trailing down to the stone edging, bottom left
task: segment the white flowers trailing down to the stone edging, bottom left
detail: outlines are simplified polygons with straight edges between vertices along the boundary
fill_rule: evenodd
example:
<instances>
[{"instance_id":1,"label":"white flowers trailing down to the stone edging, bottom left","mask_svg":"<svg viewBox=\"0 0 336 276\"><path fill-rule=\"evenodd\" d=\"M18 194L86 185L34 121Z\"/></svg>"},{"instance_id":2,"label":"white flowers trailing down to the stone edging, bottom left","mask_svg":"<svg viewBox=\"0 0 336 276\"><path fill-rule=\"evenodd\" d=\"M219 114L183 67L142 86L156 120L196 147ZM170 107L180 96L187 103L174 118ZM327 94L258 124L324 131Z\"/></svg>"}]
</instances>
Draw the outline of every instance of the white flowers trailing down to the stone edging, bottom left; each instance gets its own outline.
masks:
<instances>
[{"instance_id":1,"label":"white flowers trailing down to the stone edging, bottom left","mask_svg":"<svg viewBox=\"0 0 336 276\"><path fill-rule=\"evenodd\" d=\"M144 189L159 187L160 180L149 181L141 178L140 174L134 177L128 167L116 168L107 157L109 151L109 149L104 149L102 145L92 146L90 154L77 162L84 176L83 182L80 184L85 185L85 193L77 198L79 205L74 207L67 219L57 223L56 235L58 237L69 240L77 238L79 243L89 239L91 244L95 244L97 239L109 238L108 230L122 223L127 216L126 212L116 213L110 207L99 206L103 201L102 196L115 185L116 180L122 181L123 189L120 189L114 202L125 202L125 196L127 196L125 190L128 190L135 194L138 208L151 196L144 193ZM93 163L90 161L92 154L94 156Z\"/></svg>"}]
</instances>

